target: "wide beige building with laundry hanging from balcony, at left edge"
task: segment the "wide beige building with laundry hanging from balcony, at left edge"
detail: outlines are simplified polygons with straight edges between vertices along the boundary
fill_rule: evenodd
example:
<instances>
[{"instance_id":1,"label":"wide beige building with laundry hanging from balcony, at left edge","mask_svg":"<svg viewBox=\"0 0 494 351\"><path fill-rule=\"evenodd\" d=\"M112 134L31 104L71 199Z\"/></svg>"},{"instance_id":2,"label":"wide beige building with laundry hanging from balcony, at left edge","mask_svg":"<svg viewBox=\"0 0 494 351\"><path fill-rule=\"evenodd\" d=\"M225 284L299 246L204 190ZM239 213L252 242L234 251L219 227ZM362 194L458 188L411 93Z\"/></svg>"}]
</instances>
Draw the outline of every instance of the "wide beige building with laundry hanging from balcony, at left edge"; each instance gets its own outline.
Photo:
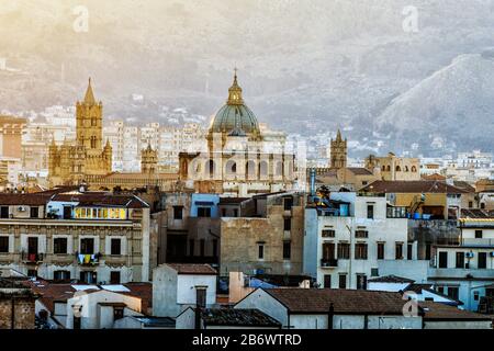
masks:
<instances>
[{"instance_id":1,"label":"wide beige building with laundry hanging from balcony, at left edge","mask_svg":"<svg viewBox=\"0 0 494 351\"><path fill-rule=\"evenodd\" d=\"M0 194L0 208L1 268L56 281L149 279L149 206L137 196L59 189Z\"/></svg>"}]
</instances>

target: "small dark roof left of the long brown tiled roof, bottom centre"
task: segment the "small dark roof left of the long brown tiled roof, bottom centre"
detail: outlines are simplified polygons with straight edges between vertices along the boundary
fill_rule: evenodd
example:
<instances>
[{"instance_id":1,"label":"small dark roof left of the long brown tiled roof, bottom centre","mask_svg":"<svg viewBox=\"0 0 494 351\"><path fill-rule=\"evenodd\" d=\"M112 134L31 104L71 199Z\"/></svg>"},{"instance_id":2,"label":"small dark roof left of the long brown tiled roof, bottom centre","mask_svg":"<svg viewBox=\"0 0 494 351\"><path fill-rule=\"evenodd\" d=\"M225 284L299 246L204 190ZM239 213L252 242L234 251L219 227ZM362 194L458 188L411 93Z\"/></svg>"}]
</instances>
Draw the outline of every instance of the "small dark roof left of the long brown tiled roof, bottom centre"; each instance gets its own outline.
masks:
<instances>
[{"instance_id":1,"label":"small dark roof left of the long brown tiled roof, bottom centre","mask_svg":"<svg viewBox=\"0 0 494 351\"><path fill-rule=\"evenodd\" d=\"M192 308L195 310L195 308ZM259 309L203 308L201 318L206 326L280 327L281 324Z\"/></svg>"}]
</instances>

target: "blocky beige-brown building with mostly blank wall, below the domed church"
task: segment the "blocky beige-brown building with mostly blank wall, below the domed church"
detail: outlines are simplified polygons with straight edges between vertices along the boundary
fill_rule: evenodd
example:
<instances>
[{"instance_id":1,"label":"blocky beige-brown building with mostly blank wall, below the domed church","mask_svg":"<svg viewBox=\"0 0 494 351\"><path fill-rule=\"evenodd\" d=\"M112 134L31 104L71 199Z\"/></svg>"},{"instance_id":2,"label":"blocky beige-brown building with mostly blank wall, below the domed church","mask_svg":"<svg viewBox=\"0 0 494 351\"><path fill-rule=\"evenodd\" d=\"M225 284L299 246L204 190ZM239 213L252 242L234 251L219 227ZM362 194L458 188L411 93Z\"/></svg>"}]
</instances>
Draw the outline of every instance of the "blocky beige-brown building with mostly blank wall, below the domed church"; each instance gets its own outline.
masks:
<instances>
[{"instance_id":1,"label":"blocky beige-brown building with mostly blank wall, below the domed church","mask_svg":"<svg viewBox=\"0 0 494 351\"><path fill-rule=\"evenodd\" d=\"M220 203L221 275L301 274L304 207L305 196L296 192Z\"/></svg>"}]
</instances>

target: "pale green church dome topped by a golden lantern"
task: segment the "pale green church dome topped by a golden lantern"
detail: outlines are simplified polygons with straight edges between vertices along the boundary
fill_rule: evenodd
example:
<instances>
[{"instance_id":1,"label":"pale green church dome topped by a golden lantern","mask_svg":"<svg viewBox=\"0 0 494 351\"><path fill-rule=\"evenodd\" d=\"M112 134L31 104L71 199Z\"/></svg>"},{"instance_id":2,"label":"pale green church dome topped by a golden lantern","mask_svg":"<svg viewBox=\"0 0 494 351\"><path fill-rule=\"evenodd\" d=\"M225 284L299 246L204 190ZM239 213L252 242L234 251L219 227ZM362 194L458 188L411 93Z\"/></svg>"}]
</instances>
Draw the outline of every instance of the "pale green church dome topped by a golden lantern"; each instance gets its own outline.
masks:
<instances>
[{"instance_id":1,"label":"pale green church dome topped by a golden lantern","mask_svg":"<svg viewBox=\"0 0 494 351\"><path fill-rule=\"evenodd\" d=\"M233 135L243 134L242 132L245 134L260 134L256 115L244 104L242 88L238 86L236 72L234 82L228 89L228 100L216 112L210 132Z\"/></svg>"}]
</instances>

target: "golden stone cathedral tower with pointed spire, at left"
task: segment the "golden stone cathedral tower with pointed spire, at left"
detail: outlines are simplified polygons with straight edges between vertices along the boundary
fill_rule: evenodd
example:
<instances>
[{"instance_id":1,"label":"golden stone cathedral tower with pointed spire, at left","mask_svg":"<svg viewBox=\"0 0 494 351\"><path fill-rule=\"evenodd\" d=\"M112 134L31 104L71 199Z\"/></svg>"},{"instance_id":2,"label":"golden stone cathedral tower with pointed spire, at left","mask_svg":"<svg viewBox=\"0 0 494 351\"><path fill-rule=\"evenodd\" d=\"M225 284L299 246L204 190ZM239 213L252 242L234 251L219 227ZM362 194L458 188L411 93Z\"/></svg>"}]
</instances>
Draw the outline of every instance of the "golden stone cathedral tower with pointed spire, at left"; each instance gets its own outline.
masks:
<instances>
[{"instance_id":1,"label":"golden stone cathedral tower with pointed spire, at left","mask_svg":"<svg viewBox=\"0 0 494 351\"><path fill-rule=\"evenodd\" d=\"M49 183L79 184L86 176L104 176L112 171L112 147L103 146L103 104L97 102L91 80L85 100L76 104L76 144L49 146Z\"/></svg>"}]
</instances>

